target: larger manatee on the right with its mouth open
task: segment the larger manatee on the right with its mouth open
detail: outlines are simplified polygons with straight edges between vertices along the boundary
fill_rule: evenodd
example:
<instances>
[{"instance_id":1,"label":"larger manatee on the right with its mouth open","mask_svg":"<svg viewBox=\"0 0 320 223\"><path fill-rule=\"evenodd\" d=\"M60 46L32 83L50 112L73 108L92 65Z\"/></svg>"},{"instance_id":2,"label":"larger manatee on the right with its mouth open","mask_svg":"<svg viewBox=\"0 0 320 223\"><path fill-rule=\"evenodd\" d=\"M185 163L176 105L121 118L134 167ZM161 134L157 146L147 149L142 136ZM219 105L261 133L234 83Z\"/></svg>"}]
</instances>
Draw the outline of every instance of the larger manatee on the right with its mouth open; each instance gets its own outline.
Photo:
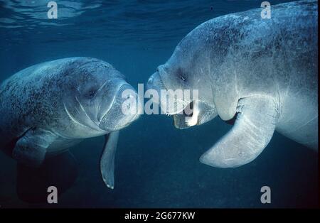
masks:
<instances>
[{"instance_id":1,"label":"larger manatee on the right with its mouth open","mask_svg":"<svg viewBox=\"0 0 320 223\"><path fill-rule=\"evenodd\" d=\"M318 1L295 1L271 6L270 19L262 19L262 9L213 18L188 33L149 78L157 91L198 89L197 100L176 102L193 109L188 119L177 106L167 111L177 128L215 116L234 121L202 163L249 163L275 130L318 150L317 10Z\"/></svg>"}]
</instances>

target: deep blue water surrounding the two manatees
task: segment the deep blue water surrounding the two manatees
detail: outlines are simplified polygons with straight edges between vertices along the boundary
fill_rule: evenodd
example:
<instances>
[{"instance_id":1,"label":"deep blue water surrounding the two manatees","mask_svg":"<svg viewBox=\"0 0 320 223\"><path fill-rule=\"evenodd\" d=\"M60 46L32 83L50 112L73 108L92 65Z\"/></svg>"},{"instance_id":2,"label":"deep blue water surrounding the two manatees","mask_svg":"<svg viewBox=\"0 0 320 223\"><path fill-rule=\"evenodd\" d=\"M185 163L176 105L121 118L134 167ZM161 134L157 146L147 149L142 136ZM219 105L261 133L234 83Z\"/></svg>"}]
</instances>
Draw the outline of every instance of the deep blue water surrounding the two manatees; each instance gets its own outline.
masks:
<instances>
[{"instance_id":1,"label":"deep blue water surrounding the two manatees","mask_svg":"<svg viewBox=\"0 0 320 223\"><path fill-rule=\"evenodd\" d=\"M38 62L86 56L110 62L130 84L146 83L193 28L226 13L259 8L261 1L127 0L0 1L0 81ZM284 1L270 1L278 4ZM115 188L105 187L99 159L103 137L71 148L79 178L55 207L316 207L318 154L275 133L252 163L222 169L198 158L231 126L218 117L178 130L167 116L143 115L123 129ZM272 190L262 205L260 188ZM16 161L0 153L0 207L29 205L16 195Z\"/></svg>"}]
</instances>

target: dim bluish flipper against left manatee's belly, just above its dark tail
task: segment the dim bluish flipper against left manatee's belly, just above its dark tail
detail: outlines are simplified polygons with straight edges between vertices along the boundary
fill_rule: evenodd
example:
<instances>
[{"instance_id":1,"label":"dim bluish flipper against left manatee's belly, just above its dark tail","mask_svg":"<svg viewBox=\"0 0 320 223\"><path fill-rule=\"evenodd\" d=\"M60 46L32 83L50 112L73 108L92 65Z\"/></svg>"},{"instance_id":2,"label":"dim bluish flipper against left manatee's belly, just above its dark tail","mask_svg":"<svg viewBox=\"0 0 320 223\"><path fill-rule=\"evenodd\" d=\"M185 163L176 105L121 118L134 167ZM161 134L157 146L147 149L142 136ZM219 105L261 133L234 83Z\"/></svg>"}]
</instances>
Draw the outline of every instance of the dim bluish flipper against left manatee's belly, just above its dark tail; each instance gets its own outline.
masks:
<instances>
[{"instance_id":1,"label":"dim bluish flipper against left manatee's belly, just above its dark tail","mask_svg":"<svg viewBox=\"0 0 320 223\"><path fill-rule=\"evenodd\" d=\"M12 157L28 166L37 167L43 163L46 150L57 136L45 129L29 129L16 141Z\"/></svg>"}]
</instances>

